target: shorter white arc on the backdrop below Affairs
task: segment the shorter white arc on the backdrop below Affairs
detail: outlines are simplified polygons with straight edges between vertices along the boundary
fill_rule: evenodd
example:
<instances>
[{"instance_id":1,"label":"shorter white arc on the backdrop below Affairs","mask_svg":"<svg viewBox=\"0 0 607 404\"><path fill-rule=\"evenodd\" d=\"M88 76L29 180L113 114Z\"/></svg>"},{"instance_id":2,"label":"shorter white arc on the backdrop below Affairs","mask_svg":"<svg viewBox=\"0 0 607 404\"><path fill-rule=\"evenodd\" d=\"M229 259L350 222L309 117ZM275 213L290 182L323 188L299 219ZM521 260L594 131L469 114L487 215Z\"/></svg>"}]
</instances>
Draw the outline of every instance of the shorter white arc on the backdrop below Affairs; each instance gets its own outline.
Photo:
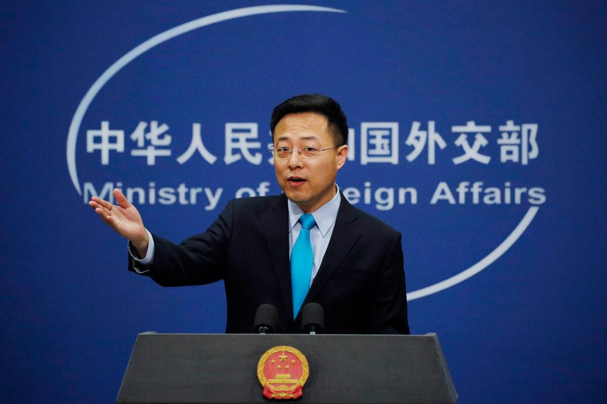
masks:
<instances>
[{"instance_id":1,"label":"shorter white arc on the backdrop below Affairs","mask_svg":"<svg viewBox=\"0 0 607 404\"><path fill-rule=\"evenodd\" d=\"M426 288L418 289L416 291L407 293L407 300L419 299L420 297L428 296L429 294L437 293L441 290L450 288L451 286L457 285L459 282L463 282L469 277L475 276L480 271L489 267L489 265L495 262L495 260L501 257L502 254L504 254L506 251L508 251L510 247L512 247L512 245L518 240L518 237L520 237L521 234L523 234L523 231L525 231L525 229L527 228L527 226L529 226L531 220L533 220L535 214L539 209L540 208L537 206L529 208L529 210L527 211L525 216L523 216L523 219L520 221L517 227L515 227L514 230L512 230L512 233L510 233L510 235L506 237L506 240L501 242L501 244L498 245L495 250L491 251L489 255L472 265L472 267L468 268L467 270L461 271L459 274L445 279L442 282L438 282L434 285L426 286Z\"/></svg>"}]
</instances>

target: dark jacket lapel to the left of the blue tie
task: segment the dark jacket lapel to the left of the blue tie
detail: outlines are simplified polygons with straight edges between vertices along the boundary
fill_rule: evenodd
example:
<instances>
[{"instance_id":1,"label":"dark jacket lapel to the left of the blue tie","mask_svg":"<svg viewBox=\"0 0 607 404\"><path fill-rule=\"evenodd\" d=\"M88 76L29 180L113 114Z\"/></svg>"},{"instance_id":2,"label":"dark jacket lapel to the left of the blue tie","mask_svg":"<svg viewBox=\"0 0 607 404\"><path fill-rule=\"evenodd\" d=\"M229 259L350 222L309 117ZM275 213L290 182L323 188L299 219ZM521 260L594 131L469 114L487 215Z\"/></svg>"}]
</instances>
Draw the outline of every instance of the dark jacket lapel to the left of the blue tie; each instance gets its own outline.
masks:
<instances>
[{"instance_id":1,"label":"dark jacket lapel to the left of the blue tie","mask_svg":"<svg viewBox=\"0 0 607 404\"><path fill-rule=\"evenodd\" d=\"M280 287L287 314L293 319L291 267L289 264L289 211L287 197L281 194L272 200L270 210L262 216L274 273Z\"/></svg>"}]
</instances>

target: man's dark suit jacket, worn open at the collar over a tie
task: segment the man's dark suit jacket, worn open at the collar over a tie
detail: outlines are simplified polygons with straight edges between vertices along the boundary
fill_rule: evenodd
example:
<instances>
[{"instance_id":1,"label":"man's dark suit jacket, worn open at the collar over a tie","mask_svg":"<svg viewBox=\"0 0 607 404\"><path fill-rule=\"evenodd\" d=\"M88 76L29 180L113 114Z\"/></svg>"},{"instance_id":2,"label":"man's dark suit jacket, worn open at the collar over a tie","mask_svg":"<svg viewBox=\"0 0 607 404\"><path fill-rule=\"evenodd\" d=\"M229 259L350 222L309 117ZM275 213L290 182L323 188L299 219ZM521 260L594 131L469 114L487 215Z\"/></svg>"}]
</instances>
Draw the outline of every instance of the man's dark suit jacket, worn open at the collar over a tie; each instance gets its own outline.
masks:
<instances>
[{"instance_id":1,"label":"man's dark suit jacket, worn open at the collar over a tie","mask_svg":"<svg viewBox=\"0 0 607 404\"><path fill-rule=\"evenodd\" d=\"M304 305L324 308L327 334L409 334L401 234L341 198ZM226 333L253 332L263 303L278 311L277 333L300 333L300 314L293 320L288 227L284 194L231 200L205 233L180 245L154 235L154 262L145 275L163 286L223 279Z\"/></svg>"}]
</instances>

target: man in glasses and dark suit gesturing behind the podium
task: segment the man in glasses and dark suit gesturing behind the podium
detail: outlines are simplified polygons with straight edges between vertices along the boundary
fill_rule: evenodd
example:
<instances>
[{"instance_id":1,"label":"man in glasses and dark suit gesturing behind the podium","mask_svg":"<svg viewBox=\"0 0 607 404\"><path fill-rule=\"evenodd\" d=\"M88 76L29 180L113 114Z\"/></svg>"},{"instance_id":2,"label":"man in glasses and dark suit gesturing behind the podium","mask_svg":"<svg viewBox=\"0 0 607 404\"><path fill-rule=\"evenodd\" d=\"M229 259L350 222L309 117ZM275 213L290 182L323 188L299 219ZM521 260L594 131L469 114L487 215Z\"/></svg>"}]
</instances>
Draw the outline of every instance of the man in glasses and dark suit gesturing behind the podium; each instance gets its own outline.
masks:
<instances>
[{"instance_id":1,"label":"man in glasses and dark suit gesturing behind the podium","mask_svg":"<svg viewBox=\"0 0 607 404\"><path fill-rule=\"evenodd\" d=\"M335 183L348 155L341 107L303 94L274 108L270 127L283 194L231 200L180 245L149 233L119 190L120 205L89 205L130 241L130 271L163 286L223 279L227 333L251 333L263 303L278 311L277 333L299 333L300 308L316 302L325 333L408 334L401 234L350 205Z\"/></svg>"}]
</instances>

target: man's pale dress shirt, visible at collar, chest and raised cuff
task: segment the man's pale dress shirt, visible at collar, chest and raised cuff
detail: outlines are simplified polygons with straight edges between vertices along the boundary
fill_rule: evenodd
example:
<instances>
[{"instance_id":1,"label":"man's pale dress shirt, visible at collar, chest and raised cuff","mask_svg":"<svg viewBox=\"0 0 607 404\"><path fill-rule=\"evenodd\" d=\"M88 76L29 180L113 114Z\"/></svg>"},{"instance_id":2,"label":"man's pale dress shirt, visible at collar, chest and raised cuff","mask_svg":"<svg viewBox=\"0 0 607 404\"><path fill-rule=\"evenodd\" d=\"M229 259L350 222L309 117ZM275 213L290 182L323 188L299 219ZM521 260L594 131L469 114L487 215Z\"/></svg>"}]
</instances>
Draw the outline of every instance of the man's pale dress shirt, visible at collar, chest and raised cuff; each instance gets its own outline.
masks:
<instances>
[{"instance_id":1,"label":"man's pale dress shirt, visible at collar, chest and raised cuff","mask_svg":"<svg viewBox=\"0 0 607 404\"><path fill-rule=\"evenodd\" d=\"M333 234L333 228L335 227L337 211L339 211L339 204L341 204L339 187L336 186L336 188L337 191L333 199L311 213L311 215L314 216L316 225L310 229L310 243L312 245L312 254L314 256L310 284L314 280L314 277L318 272L318 268L320 268L320 263L322 263L325 252L327 252L329 240L331 240L331 234ZM299 232L302 228L302 225L299 223L299 217L301 217L305 212L302 210L302 208L298 207L297 204L291 202L291 200L287 199L287 205L289 209L289 257L291 257L293 245L295 244L297 237L299 237ZM146 265L150 265L154 260L154 237L152 237L152 233L150 233L148 229L146 229L146 231L148 232L148 251L146 251L145 257L141 259L136 257L131 250L131 242L129 242L129 254L131 254L131 257L140 262L144 267ZM137 271L139 274L144 274L149 270L146 268L135 267L135 271Z\"/></svg>"}]
</instances>

